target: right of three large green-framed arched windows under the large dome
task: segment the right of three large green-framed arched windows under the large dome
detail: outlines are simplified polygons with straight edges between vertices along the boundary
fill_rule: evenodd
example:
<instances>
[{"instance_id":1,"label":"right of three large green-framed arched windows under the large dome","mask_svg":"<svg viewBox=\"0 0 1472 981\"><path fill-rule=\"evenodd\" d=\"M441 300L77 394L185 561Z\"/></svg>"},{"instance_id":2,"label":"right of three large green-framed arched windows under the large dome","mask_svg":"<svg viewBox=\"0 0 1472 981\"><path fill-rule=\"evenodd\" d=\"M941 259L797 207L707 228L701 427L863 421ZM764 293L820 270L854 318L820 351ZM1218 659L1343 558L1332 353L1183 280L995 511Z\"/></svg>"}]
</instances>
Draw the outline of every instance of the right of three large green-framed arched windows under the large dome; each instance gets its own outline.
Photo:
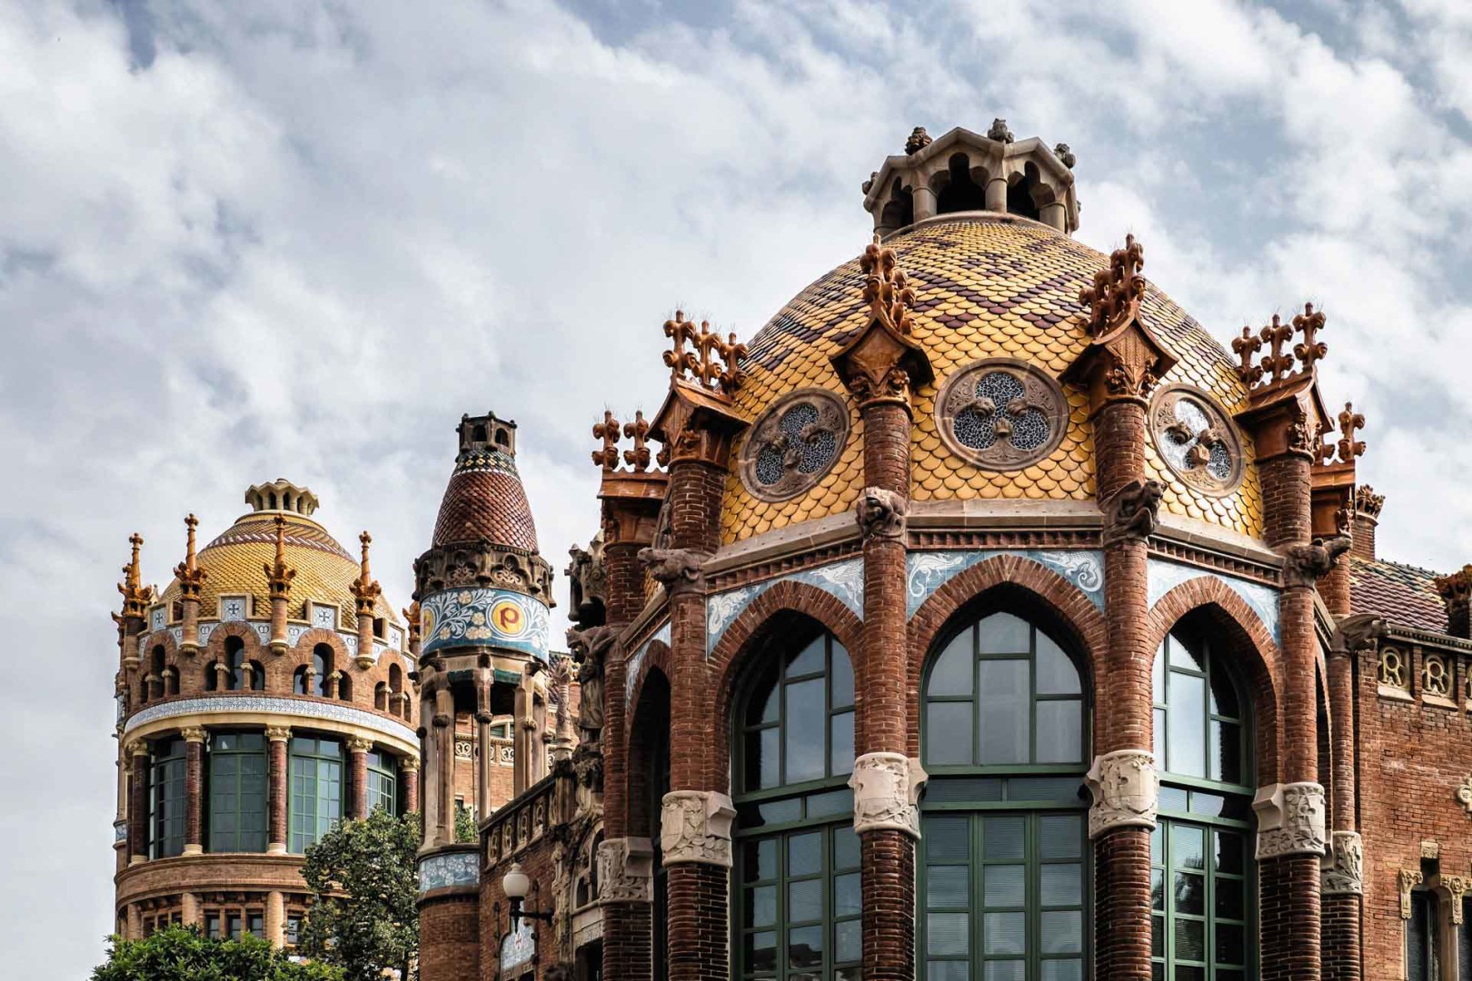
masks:
<instances>
[{"instance_id":1,"label":"right of three large green-framed arched windows under the large dome","mask_svg":"<svg viewBox=\"0 0 1472 981\"><path fill-rule=\"evenodd\" d=\"M1156 652L1151 943L1172 981L1256 977L1251 706L1220 637L1188 619Z\"/></svg>"}]
</instances>

